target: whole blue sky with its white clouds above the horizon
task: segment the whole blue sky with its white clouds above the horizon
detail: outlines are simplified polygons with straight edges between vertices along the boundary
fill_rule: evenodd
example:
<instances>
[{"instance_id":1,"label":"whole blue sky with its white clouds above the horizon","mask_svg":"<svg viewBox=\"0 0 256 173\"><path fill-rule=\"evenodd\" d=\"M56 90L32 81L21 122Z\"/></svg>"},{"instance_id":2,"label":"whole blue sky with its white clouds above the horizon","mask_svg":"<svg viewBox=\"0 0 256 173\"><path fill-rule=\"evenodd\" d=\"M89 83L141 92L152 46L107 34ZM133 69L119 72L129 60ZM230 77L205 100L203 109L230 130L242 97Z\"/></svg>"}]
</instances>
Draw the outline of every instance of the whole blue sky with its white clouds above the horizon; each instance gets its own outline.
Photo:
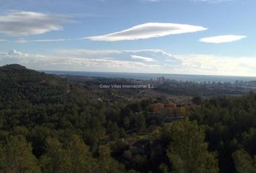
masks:
<instances>
[{"instance_id":1,"label":"whole blue sky with its white clouds above the horizon","mask_svg":"<svg viewBox=\"0 0 256 173\"><path fill-rule=\"evenodd\" d=\"M0 4L0 66L256 76L255 0Z\"/></svg>"}]
</instances>

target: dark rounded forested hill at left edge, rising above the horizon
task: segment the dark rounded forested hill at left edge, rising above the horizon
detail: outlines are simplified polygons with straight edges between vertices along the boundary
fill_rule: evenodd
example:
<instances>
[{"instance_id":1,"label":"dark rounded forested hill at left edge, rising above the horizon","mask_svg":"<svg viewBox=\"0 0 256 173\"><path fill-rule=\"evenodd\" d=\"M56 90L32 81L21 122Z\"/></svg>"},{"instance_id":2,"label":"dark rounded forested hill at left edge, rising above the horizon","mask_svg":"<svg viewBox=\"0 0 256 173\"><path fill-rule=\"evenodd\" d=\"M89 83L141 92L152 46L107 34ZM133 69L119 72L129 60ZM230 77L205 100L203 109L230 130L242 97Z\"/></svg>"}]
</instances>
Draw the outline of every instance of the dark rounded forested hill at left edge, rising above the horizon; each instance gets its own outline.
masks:
<instances>
[{"instance_id":1,"label":"dark rounded forested hill at left edge, rising above the horizon","mask_svg":"<svg viewBox=\"0 0 256 173\"><path fill-rule=\"evenodd\" d=\"M30 104L60 100L67 82L59 77L12 64L0 67L0 109L27 107Z\"/></svg>"}]
</instances>

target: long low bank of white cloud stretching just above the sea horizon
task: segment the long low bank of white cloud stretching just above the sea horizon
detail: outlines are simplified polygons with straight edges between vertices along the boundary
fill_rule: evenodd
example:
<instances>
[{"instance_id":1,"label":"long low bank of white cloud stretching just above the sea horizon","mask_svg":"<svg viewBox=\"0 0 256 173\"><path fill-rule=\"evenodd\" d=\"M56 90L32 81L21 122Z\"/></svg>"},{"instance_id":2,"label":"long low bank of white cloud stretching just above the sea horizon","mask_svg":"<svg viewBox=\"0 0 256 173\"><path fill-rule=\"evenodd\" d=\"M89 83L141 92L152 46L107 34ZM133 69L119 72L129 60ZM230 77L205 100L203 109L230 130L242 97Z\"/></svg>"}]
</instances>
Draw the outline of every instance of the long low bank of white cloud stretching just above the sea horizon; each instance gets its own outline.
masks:
<instances>
[{"instance_id":1,"label":"long low bank of white cloud stretching just above the sea horizon","mask_svg":"<svg viewBox=\"0 0 256 173\"><path fill-rule=\"evenodd\" d=\"M49 55L11 50L9 53L0 53L0 65L7 63L20 63L33 69L64 71L256 76L256 56L173 55L159 49L69 49L56 50Z\"/></svg>"}]
</instances>

